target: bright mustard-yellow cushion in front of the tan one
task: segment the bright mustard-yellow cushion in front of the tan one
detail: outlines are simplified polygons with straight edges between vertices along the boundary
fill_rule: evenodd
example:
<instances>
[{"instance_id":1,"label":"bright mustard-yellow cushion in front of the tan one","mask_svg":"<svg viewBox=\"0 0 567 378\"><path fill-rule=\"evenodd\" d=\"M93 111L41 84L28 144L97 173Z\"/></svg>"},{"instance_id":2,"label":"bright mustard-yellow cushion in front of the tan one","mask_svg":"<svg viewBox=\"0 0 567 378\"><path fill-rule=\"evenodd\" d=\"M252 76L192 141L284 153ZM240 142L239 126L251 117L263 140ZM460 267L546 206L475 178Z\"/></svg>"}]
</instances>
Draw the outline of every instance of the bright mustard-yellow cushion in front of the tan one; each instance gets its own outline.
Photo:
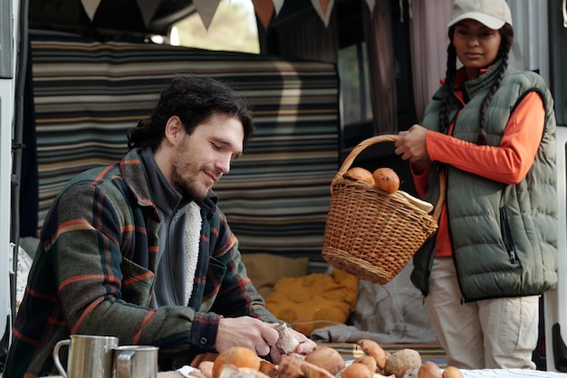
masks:
<instances>
[{"instance_id":1,"label":"bright mustard-yellow cushion in front of the tan one","mask_svg":"<svg viewBox=\"0 0 567 378\"><path fill-rule=\"evenodd\" d=\"M333 269L329 275L283 277L265 301L268 310L278 319L309 335L316 328L347 321L356 305L358 285L356 276L338 269ZM293 323L298 318L301 320Z\"/></svg>"}]
</instances>

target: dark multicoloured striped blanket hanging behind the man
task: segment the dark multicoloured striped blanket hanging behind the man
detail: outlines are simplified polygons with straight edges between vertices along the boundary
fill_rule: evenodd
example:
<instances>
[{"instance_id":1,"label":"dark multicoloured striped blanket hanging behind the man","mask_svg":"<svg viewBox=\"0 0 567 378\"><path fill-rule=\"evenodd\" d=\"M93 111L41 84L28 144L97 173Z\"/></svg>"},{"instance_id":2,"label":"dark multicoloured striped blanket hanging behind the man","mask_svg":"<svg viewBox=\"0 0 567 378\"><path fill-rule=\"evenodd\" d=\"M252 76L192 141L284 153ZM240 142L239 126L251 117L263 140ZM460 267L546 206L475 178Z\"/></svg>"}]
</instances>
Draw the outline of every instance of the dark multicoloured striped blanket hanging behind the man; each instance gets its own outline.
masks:
<instances>
[{"instance_id":1,"label":"dark multicoloured striped blanket hanging behind the man","mask_svg":"<svg viewBox=\"0 0 567 378\"><path fill-rule=\"evenodd\" d=\"M120 160L126 131L176 73L229 82L253 105L255 138L216 186L243 252L321 255L339 164L339 80L332 63L100 43L32 31L38 228L73 175Z\"/></svg>"}]
</instances>

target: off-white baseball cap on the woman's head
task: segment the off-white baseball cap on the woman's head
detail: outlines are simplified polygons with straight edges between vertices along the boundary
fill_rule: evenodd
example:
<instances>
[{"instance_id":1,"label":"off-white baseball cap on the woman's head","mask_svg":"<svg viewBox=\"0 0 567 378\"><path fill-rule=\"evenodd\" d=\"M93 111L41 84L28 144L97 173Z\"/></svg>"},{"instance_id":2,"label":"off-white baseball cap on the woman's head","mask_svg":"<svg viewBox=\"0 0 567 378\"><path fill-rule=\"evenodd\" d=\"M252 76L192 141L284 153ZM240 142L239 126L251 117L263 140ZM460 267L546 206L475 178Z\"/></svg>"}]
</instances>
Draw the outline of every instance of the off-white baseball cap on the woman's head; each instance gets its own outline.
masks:
<instances>
[{"instance_id":1,"label":"off-white baseball cap on the woman's head","mask_svg":"<svg viewBox=\"0 0 567 378\"><path fill-rule=\"evenodd\" d=\"M447 27L468 18L495 30L505 23L512 24L512 14L505 0L455 0Z\"/></svg>"}]
</instances>

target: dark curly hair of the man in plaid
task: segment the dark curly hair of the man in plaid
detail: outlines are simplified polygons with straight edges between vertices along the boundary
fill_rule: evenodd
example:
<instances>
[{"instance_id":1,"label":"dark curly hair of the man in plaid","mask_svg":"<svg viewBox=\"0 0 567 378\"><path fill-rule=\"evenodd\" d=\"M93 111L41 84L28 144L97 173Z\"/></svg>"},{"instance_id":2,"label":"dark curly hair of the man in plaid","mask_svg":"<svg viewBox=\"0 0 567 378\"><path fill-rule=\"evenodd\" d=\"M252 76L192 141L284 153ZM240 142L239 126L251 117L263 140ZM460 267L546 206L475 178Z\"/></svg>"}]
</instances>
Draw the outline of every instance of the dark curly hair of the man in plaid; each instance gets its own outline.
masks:
<instances>
[{"instance_id":1,"label":"dark curly hair of the man in plaid","mask_svg":"<svg viewBox=\"0 0 567 378\"><path fill-rule=\"evenodd\" d=\"M198 124L214 114L238 118L244 127L244 144L252 137L252 113L230 86L208 76L176 75L159 95L153 114L128 131L128 148L155 150L165 135L168 119L173 116L179 117L190 135Z\"/></svg>"}]
</instances>

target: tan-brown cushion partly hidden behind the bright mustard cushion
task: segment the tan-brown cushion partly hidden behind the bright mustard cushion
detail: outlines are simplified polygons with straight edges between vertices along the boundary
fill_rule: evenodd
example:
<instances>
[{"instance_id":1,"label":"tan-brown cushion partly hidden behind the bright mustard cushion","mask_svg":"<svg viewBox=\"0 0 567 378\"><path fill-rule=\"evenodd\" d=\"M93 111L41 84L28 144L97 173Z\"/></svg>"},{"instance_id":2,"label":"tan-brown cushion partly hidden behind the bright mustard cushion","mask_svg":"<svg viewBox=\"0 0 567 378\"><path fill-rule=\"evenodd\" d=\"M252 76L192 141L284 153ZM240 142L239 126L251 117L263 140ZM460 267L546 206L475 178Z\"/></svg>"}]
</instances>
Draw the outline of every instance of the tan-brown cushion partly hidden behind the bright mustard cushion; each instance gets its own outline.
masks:
<instances>
[{"instance_id":1,"label":"tan-brown cushion partly hidden behind the bright mustard cushion","mask_svg":"<svg viewBox=\"0 0 567 378\"><path fill-rule=\"evenodd\" d=\"M242 255L242 262L256 290L265 298L272 292L278 279L286 276L305 276L309 258L251 253Z\"/></svg>"}]
</instances>

